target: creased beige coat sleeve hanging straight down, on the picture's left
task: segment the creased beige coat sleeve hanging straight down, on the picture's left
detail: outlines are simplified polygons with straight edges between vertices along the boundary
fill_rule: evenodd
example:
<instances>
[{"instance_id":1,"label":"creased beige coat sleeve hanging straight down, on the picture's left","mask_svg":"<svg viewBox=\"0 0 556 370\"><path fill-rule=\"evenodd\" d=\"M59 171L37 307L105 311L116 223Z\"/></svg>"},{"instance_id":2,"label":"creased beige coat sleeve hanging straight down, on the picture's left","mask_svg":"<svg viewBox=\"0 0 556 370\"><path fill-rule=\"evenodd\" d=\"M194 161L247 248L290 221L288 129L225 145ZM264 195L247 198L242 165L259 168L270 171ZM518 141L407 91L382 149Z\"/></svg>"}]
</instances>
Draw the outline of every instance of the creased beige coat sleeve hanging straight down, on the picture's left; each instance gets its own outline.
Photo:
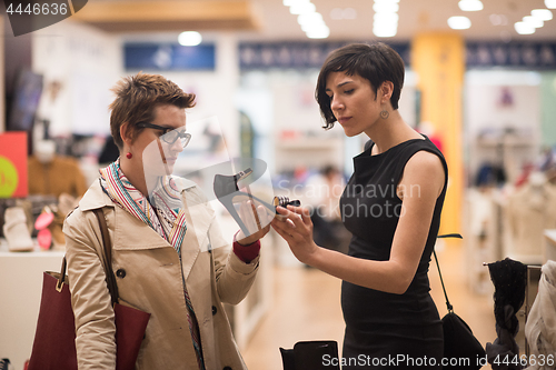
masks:
<instances>
[{"instance_id":1,"label":"creased beige coat sleeve hanging straight down, on the picture's left","mask_svg":"<svg viewBox=\"0 0 556 370\"><path fill-rule=\"evenodd\" d=\"M90 214L86 214L90 213ZM76 317L79 369L116 369L116 326L106 274L97 251L92 212L73 211L64 222L66 258Z\"/></svg>"}]
</instances>

